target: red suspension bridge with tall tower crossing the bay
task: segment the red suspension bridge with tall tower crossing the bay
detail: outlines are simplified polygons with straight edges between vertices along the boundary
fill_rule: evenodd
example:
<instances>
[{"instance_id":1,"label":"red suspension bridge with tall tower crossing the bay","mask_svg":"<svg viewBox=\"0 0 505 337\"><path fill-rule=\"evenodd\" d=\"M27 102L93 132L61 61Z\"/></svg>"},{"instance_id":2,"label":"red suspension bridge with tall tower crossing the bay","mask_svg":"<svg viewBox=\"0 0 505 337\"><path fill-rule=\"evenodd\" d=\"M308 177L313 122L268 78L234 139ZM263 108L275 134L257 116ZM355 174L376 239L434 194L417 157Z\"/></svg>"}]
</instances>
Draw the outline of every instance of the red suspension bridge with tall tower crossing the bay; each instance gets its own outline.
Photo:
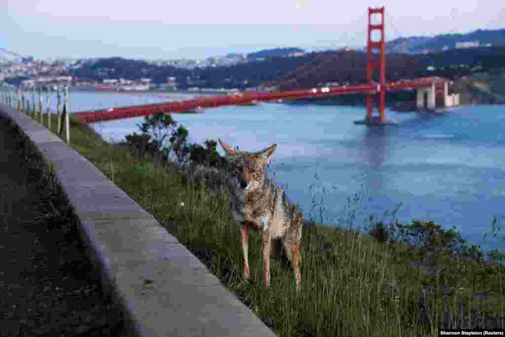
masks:
<instances>
[{"instance_id":1,"label":"red suspension bridge with tall tower crossing the bay","mask_svg":"<svg viewBox=\"0 0 505 337\"><path fill-rule=\"evenodd\" d=\"M381 15L380 24L372 24L371 18L374 14ZM372 32L378 30L381 33L379 41L372 40ZM372 58L372 50L379 51L379 58ZM372 82L372 71L379 69L380 82ZM420 78L412 81L402 81L386 83L386 63L385 63L385 36L384 36L384 7L368 9L368 40L367 40L367 80L368 83L354 86L340 87L317 87L311 89L274 91L274 92L242 92L233 95L216 95L208 98L196 98L182 102L158 103L141 106L128 106L119 108L110 108L96 111L77 112L73 116L81 119L85 123L94 123L100 121L111 121L124 118L134 118L149 116L158 113L186 113L191 110L216 108L230 105L244 105L255 102L271 102L276 100L296 100L313 97L324 97L330 95L365 93L367 95L367 114L365 120L358 122L367 125L387 124L385 116L386 91L400 88L426 88L427 90L418 90L418 106L425 106L433 109L435 106L435 97L440 85L445 84L445 95L447 95L446 81L439 78ZM420 92L427 96L427 102L420 103ZM380 112L379 117L372 116L372 98L373 95L379 95Z\"/></svg>"}]
</instances>

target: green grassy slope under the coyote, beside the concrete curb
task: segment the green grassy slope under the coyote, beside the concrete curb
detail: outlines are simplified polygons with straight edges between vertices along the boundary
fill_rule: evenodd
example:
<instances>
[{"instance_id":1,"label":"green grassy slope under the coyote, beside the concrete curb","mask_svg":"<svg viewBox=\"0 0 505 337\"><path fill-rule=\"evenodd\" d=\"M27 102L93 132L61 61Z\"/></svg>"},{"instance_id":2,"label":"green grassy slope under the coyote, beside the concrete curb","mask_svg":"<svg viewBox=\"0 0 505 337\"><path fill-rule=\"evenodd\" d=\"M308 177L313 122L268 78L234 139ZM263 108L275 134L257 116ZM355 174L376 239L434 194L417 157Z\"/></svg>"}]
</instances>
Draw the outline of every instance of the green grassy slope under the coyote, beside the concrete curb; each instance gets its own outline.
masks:
<instances>
[{"instance_id":1,"label":"green grassy slope under the coyote, beside the concrete curb","mask_svg":"<svg viewBox=\"0 0 505 337\"><path fill-rule=\"evenodd\" d=\"M479 317L486 327L504 325L505 266L450 260L338 227L304 226L299 294L281 261L271 263L271 286L264 286L260 240L252 232L246 281L226 190L216 197L204 184L186 182L175 166L136 158L73 118L70 139L279 336L436 336L442 325L477 326Z\"/></svg>"}]
</instances>

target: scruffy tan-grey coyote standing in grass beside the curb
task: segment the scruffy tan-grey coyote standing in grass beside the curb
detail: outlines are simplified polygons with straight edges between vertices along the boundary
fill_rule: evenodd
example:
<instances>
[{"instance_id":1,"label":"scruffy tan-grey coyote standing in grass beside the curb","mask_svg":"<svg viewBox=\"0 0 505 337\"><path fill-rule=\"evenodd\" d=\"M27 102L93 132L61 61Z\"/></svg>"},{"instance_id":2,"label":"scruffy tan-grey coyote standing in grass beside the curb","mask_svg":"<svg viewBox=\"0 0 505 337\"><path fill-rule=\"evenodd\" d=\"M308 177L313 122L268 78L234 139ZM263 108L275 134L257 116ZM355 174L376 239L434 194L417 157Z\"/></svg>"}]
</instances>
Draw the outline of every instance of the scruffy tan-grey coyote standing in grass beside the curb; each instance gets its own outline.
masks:
<instances>
[{"instance_id":1,"label":"scruffy tan-grey coyote standing in grass beside the curb","mask_svg":"<svg viewBox=\"0 0 505 337\"><path fill-rule=\"evenodd\" d=\"M261 230L264 281L270 285L270 257L284 249L294 270L296 290L300 287L301 211L287 199L282 188L265 173L277 144L254 153L231 148L219 139L226 157L226 185L230 191L231 217L238 224L244 254L244 277L249 277L247 258L249 229Z\"/></svg>"}]
</instances>

